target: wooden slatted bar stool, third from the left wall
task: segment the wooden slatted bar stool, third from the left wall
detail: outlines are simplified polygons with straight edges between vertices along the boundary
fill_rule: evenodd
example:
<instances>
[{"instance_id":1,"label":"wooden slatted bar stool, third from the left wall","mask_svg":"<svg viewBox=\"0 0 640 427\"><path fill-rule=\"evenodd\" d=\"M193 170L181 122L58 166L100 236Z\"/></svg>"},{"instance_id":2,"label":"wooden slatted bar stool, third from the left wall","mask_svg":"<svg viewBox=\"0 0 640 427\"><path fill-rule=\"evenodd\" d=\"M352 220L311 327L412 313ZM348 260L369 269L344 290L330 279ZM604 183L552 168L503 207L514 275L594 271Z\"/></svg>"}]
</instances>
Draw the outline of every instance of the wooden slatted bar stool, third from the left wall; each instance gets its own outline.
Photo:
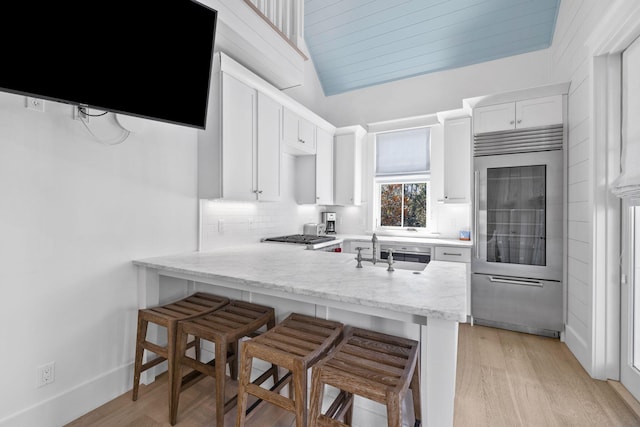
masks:
<instances>
[{"instance_id":1,"label":"wooden slatted bar stool, third from the left wall","mask_svg":"<svg viewBox=\"0 0 640 427\"><path fill-rule=\"evenodd\" d=\"M296 415L296 426L307 425L307 369L313 366L342 335L343 324L293 313L275 328L242 343L238 416L236 426L244 426L248 396L258 398L248 412L269 402ZM250 382L253 359L261 359L289 372L271 389L260 387L261 378ZM289 398L279 394L289 384Z\"/></svg>"}]
</instances>

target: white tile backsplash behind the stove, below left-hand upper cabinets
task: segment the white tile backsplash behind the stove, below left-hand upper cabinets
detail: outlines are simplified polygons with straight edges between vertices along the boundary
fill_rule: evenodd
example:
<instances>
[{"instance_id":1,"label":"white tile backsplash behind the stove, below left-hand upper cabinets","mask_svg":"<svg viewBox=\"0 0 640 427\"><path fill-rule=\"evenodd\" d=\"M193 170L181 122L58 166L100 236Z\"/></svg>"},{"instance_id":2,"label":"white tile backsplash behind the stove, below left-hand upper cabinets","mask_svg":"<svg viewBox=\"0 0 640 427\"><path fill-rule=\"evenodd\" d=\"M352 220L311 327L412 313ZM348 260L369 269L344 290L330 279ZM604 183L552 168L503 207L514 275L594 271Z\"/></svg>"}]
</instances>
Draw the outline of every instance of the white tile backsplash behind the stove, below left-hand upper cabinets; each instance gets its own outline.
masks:
<instances>
[{"instance_id":1,"label":"white tile backsplash behind the stove, below left-hand upper cabinets","mask_svg":"<svg viewBox=\"0 0 640 427\"><path fill-rule=\"evenodd\" d=\"M298 205L295 201L294 161L295 157L282 154L282 197L278 202L202 200L201 250L300 234L305 223L320 222L319 206Z\"/></svg>"}]
</instances>

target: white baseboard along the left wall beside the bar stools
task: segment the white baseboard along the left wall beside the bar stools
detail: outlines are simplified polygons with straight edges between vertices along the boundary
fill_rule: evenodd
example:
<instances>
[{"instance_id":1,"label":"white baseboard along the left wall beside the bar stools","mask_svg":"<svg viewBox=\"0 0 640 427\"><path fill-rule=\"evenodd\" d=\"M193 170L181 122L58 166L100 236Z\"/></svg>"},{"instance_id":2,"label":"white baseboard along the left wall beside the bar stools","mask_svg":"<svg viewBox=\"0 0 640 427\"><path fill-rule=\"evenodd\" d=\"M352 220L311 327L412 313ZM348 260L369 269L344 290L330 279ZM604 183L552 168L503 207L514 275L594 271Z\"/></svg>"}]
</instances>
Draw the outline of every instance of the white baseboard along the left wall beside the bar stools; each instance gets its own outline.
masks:
<instances>
[{"instance_id":1,"label":"white baseboard along the left wall beside the bar stools","mask_svg":"<svg viewBox=\"0 0 640 427\"><path fill-rule=\"evenodd\" d=\"M127 392L132 383L133 364L121 366L0 419L0 427L59 427Z\"/></svg>"}]
</instances>

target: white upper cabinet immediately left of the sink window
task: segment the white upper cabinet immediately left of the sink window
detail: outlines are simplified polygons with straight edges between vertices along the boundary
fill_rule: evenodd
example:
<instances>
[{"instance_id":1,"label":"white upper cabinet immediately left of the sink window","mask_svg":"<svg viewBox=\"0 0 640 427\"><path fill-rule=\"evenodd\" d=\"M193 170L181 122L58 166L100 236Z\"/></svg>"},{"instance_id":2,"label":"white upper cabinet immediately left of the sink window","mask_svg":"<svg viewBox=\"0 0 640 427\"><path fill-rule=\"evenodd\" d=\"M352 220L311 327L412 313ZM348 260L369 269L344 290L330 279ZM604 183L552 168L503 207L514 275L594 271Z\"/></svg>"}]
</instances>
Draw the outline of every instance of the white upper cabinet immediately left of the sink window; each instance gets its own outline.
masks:
<instances>
[{"instance_id":1,"label":"white upper cabinet immediately left of the sink window","mask_svg":"<svg viewBox=\"0 0 640 427\"><path fill-rule=\"evenodd\" d=\"M362 202L362 126L336 129L334 150L334 204Z\"/></svg>"}]
</instances>

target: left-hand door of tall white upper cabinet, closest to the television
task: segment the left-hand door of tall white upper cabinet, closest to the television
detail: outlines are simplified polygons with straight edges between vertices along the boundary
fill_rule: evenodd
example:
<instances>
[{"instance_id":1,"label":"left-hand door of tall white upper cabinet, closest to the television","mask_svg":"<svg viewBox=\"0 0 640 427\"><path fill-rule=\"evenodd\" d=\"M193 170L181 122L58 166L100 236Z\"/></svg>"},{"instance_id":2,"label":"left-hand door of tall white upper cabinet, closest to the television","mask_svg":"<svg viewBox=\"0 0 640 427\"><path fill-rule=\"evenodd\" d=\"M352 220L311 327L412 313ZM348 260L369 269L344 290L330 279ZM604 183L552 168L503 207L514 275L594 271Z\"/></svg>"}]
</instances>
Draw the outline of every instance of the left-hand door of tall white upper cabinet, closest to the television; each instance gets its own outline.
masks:
<instances>
[{"instance_id":1,"label":"left-hand door of tall white upper cabinet, closest to the television","mask_svg":"<svg viewBox=\"0 0 640 427\"><path fill-rule=\"evenodd\" d=\"M256 200L256 91L222 75L222 196Z\"/></svg>"}]
</instances>

